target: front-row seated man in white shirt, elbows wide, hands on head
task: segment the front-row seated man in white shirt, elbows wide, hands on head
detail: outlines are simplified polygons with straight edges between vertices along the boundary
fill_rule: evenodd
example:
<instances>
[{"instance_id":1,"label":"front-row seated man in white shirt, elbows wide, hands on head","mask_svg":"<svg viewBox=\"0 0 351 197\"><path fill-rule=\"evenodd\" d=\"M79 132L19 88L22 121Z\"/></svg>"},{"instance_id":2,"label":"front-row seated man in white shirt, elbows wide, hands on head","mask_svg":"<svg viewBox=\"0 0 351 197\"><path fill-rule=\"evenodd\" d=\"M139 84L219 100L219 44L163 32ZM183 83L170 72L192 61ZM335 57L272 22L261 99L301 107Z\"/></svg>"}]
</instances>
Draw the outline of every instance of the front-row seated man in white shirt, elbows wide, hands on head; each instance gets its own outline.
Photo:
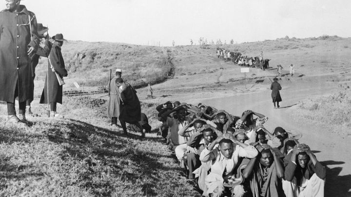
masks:
<instances>
[{"instance_id":1,"label":"front-row seated man in white shirt, elbows wide, hands on head","mask_svg":"<svg viewBox=\"0 0 351 197\"><path fill-rule=\"evenodd\" d=\"M219 144L214 149L216 144ZM233 146L233 143L237 144ZM225 190L230 189L230 192L234 197L242 197L245 194L243 186L237 184L231 188L226 188L226 183L235 176L235 167L238 164L239 158L254 158L258 154L254 146L241 143L237 141L233 136L225 138L223 136L218 137L213 143L205 148L200 154L200 161L208 162L211 161L211 172L205 178L205 184L207 187L206 194L210 194L214 197L219 197Z\"/></svg>"}]
</instances>

